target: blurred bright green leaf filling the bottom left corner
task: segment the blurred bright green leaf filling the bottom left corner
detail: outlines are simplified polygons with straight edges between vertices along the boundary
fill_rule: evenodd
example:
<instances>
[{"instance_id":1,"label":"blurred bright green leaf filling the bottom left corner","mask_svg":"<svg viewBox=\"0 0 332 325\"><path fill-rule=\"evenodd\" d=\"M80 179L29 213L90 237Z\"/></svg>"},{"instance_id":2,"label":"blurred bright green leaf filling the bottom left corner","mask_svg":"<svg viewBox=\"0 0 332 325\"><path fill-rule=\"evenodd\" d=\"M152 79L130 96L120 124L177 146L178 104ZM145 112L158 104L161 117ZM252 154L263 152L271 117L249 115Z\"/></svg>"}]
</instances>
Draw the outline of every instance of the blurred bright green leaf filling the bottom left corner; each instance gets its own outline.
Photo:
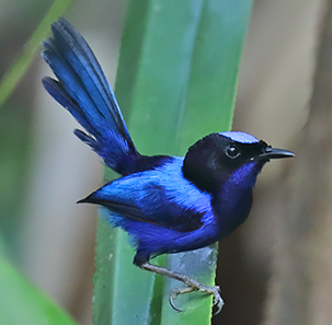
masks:
<instances>
[{"instance_id":1,"label":"blurred bright green leaf filling the bottom left corner","mask_svg":"<svg viewBox=\"0 0 332 325\"><path fill-rule=\"evenodd\" d=\"M3 251L0 245L0 252ZM0 255L0 324L77 324L49 298L28 283L2 254Z\"/></svg>"}]
</instances>

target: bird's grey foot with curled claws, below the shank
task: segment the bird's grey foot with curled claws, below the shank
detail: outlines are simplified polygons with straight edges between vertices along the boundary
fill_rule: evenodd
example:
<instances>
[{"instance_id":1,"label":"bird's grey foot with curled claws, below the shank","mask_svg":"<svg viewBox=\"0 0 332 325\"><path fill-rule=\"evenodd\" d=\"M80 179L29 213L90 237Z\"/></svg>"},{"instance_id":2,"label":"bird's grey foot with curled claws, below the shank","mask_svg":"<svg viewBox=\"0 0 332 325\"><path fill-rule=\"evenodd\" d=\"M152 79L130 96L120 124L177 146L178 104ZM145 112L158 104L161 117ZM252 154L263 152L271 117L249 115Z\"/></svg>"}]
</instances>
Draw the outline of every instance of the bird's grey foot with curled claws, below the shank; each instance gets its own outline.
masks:
<instances>
[{"instance_id":1,"label":"bird's grey foot with curled claws, below the shank","mask_svg":"<svg viewBox=\"0 0 332 325\"><path fill-rule=\"evenodd\" d=\"M179 309L174 303L174 300L178 298L178 295L188 293L188 292L192 292L192 291L201 291L201 292L214 295L214 307L217 309L216 312L214 313L214 315L217 315L217 314L220 313L220 311L224 306L224 300L220 295L220 287L219 286L207 287L207 286L204 286L204 285L198 283L198 282L190 283L190 286L191 287L184 287L184 288L174 289L174 290L171 291L169 300L170 300L171 306L175 311L183 312L183 310Z\"/></svg>"}]
</instances>

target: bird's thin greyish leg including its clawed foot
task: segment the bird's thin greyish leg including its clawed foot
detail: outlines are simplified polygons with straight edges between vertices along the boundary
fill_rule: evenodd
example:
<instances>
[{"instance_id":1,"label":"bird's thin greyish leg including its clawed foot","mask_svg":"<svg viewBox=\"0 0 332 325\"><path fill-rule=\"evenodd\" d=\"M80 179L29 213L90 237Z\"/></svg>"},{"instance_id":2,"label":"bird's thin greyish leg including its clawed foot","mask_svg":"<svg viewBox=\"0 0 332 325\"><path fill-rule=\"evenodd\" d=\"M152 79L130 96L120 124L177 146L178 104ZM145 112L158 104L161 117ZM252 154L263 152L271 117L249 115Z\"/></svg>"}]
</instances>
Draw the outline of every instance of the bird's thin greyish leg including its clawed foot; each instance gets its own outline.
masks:
<instances>
[{"instance_id":1,"label":"bird's thin greyish leg including its clawed foot","mask_svg":"<svg viewBox=\"0 0 332 325\"><path fill-rule=\"evenodd\" d=\"M145 262L140 265L138 265L141 269L151 271L151 272L156 272L172 279L175 279L178 281L181 281L183 283L185 283L187 286L187 288L182 288L182 289L178 289L171 292L170 294L170 304L171 306L176 310L176 311L182 311L179 307L175 306L174 304L174 300L178 298L179 294L184 294L184 293L188 293L192 291L201 291L201 292L205 292L208 294L213 294L214 295L214 306L217 306L217 311L215 314L218 314L224 305L224 301L222 298L220 297L220 288L218 286L215 287L207 287L204 286L202 283L199 283L196 279L190 278L185 275L182 274L178 274L175 271L169 270L167 268L163 267L159 267L156 265L152 265L148 262Z\"/></svg>"}]
</instances>

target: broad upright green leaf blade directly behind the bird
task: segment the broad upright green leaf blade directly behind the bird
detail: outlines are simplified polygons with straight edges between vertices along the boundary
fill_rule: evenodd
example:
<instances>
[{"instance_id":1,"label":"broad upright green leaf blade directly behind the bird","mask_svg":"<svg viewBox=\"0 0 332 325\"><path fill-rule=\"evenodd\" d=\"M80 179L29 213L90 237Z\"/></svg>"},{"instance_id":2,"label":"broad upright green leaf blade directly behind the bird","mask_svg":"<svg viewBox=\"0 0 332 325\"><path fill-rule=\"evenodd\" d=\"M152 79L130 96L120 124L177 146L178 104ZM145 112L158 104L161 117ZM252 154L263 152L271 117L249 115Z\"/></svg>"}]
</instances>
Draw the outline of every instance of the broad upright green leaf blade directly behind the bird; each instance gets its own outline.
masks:
<instances>
[{"instance_id":1,"label":"broad upright green leaf blade directly behind the bird","mask_svg":"<svg viewBox=\"0 0 332 325\"><path fill-rule=\"evenodd\" d=\"M129 2L116 95L133 140L144 154L185 154L196 140L229 130L251 0L142 0ZM94 324L209 324L211 297L176 300L180 282L133 266L134 249L121 230L100 221ZM217 248L169 255L170 269L213 285ZM152 260L156 263L156 260ZM158 259L165 265L165 257ZM222 283L221 283L222 287Z\"/></svg>"}]
</instances>

